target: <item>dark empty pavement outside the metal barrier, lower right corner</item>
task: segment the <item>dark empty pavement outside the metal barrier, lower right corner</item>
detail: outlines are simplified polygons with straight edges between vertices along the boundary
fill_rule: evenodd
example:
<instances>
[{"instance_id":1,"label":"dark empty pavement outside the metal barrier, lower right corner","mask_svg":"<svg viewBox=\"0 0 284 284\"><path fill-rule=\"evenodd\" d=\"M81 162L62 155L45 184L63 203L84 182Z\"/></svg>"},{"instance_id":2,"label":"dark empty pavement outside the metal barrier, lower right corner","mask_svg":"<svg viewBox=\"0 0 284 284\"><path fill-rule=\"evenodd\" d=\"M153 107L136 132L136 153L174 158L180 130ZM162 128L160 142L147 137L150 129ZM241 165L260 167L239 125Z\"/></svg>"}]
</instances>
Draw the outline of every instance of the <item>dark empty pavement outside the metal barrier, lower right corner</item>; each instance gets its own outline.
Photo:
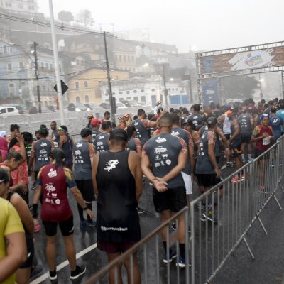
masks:
<instances>
[{"instance_id":1,"label":"dark empty pavement outside the metal barrier, lower right corner","mask_svg":"<svg viewBox=\"0 0 284 284\"><path fill-rule=\"evenodd\" d=\"M212 283L284 283L284 194L281 189L276 192L276 197L283 211L272 199L260 216L268 234L264 233L261 224L256 220L246 236L255 260L252 260L242 242Z\"/></svg>"}]
</instances>

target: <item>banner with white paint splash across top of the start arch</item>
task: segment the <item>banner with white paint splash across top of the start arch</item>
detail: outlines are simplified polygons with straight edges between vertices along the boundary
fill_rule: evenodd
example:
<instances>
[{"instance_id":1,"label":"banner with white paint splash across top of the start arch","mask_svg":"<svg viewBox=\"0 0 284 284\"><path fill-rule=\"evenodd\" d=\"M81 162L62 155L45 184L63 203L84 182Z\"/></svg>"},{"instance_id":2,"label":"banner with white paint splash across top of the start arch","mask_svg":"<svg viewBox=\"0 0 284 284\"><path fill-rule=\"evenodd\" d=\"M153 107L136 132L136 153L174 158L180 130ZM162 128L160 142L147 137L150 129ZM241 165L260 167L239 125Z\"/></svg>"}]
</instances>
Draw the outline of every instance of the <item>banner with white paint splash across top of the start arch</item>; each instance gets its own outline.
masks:
<instances>
[{"instance_id":1,"label":"banner with white paint splash across top of the start arch","mask_svg":"<svg viewBox=\"0 0 284 284\"><path fill-rule=\"evenodd\" d=\"M200 58L201 73L229 72L284 65L284 46Z\"/></svg>"}]
</instances>

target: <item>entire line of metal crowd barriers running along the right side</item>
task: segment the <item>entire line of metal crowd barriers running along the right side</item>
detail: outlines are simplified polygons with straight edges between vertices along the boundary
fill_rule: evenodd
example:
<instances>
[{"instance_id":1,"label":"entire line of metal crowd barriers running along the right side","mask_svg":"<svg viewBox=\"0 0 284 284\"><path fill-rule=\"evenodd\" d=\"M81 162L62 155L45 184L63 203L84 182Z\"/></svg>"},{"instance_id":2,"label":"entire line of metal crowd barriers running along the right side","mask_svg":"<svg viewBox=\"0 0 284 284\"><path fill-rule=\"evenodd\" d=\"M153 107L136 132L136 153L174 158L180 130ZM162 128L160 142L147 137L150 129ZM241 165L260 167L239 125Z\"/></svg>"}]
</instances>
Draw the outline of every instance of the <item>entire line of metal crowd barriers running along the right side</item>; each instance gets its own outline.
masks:
<instances>
[{"instance_id":1,"label":"entire line of metal crowd barriers running along the right side","mask_svg":"<svg viewBox=\"0 0 284 284\"><path fill-rule=\"evenodd\" d=\"M116 283L119 283L118 269L127 259L131 262L130 283L134 283L133 255L136 251L142 283L146 284L209 283L241 241L244 241L251 258L254 258L246 234L256 220L267 234L261 221L261 212L271 199L282 209L275 192L279 187L284 192L281 185L284 175L283 154L284 136L268 151L190 202L190 220L188 208L185 207L129 251L104 266L86 283L107 283L107 274L113 269L116 271ZM160 234L163 229L166 230L167 251L169 253L170 246L175 245L179 256L178 219L182 215L185 224L190 221L191 233L190 239L187 230L185 233L185 270L180 270L178 266L175 270L169 263L161 265L163 249ZM173 222L177 224L177 230L170 232Z\"/></svg>"}]
</instances>

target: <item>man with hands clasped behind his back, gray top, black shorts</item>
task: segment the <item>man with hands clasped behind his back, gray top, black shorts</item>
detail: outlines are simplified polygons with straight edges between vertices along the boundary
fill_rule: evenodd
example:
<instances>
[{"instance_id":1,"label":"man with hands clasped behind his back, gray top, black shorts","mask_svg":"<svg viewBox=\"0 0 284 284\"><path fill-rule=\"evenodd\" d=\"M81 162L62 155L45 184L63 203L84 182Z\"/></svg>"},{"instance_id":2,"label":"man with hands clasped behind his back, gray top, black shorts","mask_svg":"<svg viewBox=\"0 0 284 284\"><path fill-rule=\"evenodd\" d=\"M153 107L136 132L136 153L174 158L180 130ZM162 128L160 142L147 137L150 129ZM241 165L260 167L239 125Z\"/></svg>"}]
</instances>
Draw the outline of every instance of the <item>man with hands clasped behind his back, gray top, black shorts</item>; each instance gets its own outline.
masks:
<instances>
[{"instance_id":1,"label":"man with hands clasped behind his back, gray top, black shorts","mask_svg":"<svg viewBox=\"0 0 284 284\"><path fill-rule=\"evenodd\" d=\"M188 159L185 141L170 134L172 121L170 115L160 117L158 121L160 133L148 140L143 147L142 170L146 178L153 183L153 202L156 212L161 214L162 223L168 220L173 212L179 212L186 206L185 182L181 171ZM185 268L185 217L178 218L180 258L177 265ZM168 255L166 231L162 231L165 249L164 263L170 263L177 256L170 249Z\"/></svg>"}]
</instances>

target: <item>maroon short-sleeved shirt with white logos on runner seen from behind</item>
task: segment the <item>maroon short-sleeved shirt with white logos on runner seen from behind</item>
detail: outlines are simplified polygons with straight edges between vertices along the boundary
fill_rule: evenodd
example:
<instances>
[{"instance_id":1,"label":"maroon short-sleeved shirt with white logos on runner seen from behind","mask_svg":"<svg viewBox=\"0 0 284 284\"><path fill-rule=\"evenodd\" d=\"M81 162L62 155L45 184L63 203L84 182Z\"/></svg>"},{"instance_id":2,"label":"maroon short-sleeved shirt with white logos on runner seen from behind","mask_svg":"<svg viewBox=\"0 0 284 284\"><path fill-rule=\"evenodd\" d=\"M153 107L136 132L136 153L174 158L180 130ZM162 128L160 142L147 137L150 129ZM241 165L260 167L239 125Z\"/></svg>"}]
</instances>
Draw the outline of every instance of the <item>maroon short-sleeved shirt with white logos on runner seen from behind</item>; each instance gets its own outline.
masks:
<instances>
[{"instance_id":1,"label":"maroon short-sleeved shirt with white logos on runner seen from behind","mask_svg":"<svg viewBox=\"0 0 284 284\"><path fill-rule=\"evenodd\" d=\"M48 164L40 169L37 184L43 190L41 219L48 222L66 221L72 216L67 197L67 187L75 187L72 172L67 168L55 168Z\"/></svg>"}]
</instances>

